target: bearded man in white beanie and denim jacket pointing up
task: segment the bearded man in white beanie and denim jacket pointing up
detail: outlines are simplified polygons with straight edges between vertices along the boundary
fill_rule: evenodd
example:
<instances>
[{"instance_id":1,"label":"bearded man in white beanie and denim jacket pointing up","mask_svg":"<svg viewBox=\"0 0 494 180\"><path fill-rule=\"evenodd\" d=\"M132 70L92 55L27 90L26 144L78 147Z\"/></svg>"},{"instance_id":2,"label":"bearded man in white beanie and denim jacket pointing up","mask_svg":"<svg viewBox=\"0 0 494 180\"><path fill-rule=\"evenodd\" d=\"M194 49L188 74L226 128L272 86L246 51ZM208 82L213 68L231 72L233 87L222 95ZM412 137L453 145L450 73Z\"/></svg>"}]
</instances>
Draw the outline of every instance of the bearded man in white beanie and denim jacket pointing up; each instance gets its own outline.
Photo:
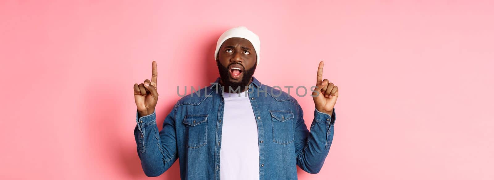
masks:
<instances>
[{"instance_id":1,"label":"bearded man in white beanie and denim jacket pointing up","mask_svg":"<svg viewBox=\"0 0 494 180\"><path fill-rule=\"evenodd\" d=\"M197 95L182 97L158 132L158 70L134 85L134 130L144 173L163 174L179 158L184 180L294 180L298 165L318 173L329 152L338 87L317 71L310 132L297 100L252 77L260 42L245 27L221 35L215 50L220 78ZM235 91L236 90L236 91Z\"/></svg>"}]
</instances>

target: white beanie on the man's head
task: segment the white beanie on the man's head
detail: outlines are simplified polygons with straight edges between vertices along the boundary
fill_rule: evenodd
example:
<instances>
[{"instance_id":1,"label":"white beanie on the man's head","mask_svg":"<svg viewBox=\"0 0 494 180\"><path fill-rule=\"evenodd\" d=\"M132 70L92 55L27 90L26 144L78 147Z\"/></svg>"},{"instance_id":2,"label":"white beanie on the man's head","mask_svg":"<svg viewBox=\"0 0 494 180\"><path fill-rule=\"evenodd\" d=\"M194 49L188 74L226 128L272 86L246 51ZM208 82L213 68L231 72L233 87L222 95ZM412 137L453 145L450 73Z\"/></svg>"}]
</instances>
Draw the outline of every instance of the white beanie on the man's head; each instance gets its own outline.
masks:
<instances>
[{"instance_id":1,"label":"white beanie on the man's head","mask_svg":"<svg viewBox=\"0 0 494 180\"><path fill-rule=\"evenodd\" d=\"M218 39L218 43L216 43L216 50L214 50L214 60L216 60L216 56L218 55L219 48L225 42L226 40L230 38L244 38L254 46L256 58L257 58L257 65L259 65L259 52L261 48L261 42L259 41L259 37L252 33L252 31L248 30L244 26L239 26L236 28L229 29L225 31Z\"/></svg>"}]
</instances>

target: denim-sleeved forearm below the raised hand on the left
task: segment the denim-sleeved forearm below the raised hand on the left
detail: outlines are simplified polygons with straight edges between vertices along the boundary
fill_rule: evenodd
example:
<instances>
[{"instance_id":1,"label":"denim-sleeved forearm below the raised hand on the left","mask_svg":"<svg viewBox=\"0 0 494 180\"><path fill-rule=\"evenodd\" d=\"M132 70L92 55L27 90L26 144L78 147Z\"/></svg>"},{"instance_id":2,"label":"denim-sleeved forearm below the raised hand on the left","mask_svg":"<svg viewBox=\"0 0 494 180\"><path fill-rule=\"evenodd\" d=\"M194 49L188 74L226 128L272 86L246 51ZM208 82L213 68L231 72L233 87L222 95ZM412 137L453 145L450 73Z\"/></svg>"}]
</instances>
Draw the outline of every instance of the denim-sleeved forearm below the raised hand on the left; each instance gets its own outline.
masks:
<instances>
[{"instance_id":1,"label":"denim-sleeved forearm below the raised hand on the left","mask_svg":"<svg viewBox=\"0 0 494 180\"><path fill-rule=\"evenodd\" d=\"M156 124L156 114L137 118L134 137L137 143L137 154L141 159L142 169L146 176L156 177L163 174L176 160L176 153L166 149L160 138ZM175 142L169 142L175 143Z\"/></svg>"}]
</instances>

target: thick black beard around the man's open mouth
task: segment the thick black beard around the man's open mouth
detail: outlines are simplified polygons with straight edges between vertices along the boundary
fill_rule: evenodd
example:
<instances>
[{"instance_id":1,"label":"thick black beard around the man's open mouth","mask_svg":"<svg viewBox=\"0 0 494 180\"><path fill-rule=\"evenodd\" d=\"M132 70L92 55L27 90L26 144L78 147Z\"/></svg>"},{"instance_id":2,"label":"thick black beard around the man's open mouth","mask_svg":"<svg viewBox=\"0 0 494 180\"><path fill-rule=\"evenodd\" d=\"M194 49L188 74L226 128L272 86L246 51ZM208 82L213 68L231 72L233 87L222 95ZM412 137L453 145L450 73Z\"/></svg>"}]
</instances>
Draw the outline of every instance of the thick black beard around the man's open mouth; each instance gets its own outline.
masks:
<instances>
[{"instance_id":1,"label":"thick black beard around the man's open mouth","mask_svg":"<svg viewBox=\"0 0 494 180\"><path fill-rule=\"evenodd\" d=\"M247 89L247 86L250 84L250 79L252 78L252 75L254 75L255 68L257 67L257 63L254 64L254 66L250 69L246 69L244 65L240 63L231 63L228 65L228 67L232 64L240 64L242 67L244 67L244 75L242 76L242 80L240 82L233 82L230 80L230 71L228 70L228 67L223 66L219 61L216 61L216 64L218 66L218 71L219 71L219 76L221 78L221 82L223 83L224 89L223 91L230 91L230 88L232 88L233 91L237 90L240 87L240 91L243 92Z\"/></svg>"}]
</instances>

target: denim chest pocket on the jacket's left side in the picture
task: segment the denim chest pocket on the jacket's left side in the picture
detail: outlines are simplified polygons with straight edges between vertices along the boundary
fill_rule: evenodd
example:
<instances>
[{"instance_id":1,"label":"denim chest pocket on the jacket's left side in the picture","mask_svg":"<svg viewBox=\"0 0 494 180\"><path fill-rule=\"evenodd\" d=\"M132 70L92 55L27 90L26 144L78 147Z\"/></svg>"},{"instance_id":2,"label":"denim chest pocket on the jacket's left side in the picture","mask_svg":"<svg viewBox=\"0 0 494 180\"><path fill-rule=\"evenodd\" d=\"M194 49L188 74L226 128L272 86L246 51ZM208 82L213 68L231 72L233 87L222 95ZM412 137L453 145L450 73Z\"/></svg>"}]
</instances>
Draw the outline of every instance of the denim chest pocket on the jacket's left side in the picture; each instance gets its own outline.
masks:
<instances>
[{"instance_id":1,"label":"denim chest pocket on the jacket's left side in the picture","mask_svg":"<svg viewBox=\"0 0 494 180\"><path fill-rule=\"evenodd\" d=\"M207 114L190 114L184 118L187 147L198 148L207 142Z\"/></svg>"}]
</instances>

